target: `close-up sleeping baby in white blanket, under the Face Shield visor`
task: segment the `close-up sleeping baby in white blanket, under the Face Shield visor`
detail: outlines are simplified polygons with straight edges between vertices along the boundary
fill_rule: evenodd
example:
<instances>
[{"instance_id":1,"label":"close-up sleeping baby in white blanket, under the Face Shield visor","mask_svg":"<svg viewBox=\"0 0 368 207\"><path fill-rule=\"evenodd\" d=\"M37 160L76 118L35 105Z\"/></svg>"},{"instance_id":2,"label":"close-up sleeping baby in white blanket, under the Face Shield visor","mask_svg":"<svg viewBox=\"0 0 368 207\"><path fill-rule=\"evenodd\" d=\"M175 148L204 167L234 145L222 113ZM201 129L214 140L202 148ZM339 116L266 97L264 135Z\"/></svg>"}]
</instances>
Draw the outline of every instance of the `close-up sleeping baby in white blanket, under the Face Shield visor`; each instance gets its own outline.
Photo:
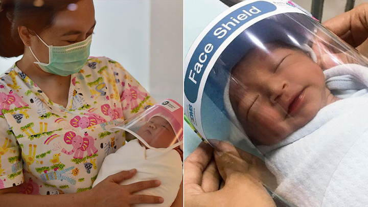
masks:
<instances>
[{"instance_id":1,"label":"close-up sleeping baby in white blanket, under the Face Shield visor","mask_svg":"<svg viewBox=\"0 0 368 207\"><path fill-rule=\"evenodd\" d=\"M275 193L297 206L367 205L368 68L323 72L300 48L265 47L233 67L224 99L264 154Z\"/></svg>"}]
</instances>

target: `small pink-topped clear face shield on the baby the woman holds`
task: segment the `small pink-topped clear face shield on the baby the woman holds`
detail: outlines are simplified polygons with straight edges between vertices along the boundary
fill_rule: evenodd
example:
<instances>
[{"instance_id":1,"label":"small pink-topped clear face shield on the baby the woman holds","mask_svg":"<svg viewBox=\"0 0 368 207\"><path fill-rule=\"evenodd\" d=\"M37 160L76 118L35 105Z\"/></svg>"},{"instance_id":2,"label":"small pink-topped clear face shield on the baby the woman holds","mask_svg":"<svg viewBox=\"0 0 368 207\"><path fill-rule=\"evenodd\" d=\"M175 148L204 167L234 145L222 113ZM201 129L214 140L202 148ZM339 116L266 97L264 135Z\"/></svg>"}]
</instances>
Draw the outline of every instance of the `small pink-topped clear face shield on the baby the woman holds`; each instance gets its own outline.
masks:
<instances>
[{"instance_id":1,"label":"small pink-topped clear face shield on the baby the woman holds","mask_svg":"<svg viewBox=\"0 0 368 207\"><path fill-rule=\"evenodd\" d=\"M123 129L135 136L147 149L167 152L177 147L182 150L182 123L182 106L167 99L110 130Z\"/></svg>"}]
</instances>

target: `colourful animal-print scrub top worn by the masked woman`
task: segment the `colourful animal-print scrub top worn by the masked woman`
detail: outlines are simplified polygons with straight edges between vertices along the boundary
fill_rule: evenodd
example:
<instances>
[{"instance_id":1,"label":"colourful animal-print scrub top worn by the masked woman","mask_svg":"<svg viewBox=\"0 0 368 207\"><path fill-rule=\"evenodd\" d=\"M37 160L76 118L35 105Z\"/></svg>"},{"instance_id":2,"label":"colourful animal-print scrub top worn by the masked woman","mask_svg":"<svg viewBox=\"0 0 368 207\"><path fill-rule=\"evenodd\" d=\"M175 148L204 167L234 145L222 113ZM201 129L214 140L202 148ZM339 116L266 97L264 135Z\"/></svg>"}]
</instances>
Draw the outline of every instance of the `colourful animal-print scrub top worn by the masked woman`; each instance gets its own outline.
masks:
<instances>
[{"instance_id":1,"label":"colourful animal-print scrub top worn by the masked woman","mask_svg":"<svg viewBox=\"0 0 368 207\"><path fill-rule=\"evenodd\" d=\"M90 57L65 107L14 64L0 80L0 189L51 195L92 187L103 159L125 144L110 127L155 104L118 63Z\"/></svg>"}]
</instances>

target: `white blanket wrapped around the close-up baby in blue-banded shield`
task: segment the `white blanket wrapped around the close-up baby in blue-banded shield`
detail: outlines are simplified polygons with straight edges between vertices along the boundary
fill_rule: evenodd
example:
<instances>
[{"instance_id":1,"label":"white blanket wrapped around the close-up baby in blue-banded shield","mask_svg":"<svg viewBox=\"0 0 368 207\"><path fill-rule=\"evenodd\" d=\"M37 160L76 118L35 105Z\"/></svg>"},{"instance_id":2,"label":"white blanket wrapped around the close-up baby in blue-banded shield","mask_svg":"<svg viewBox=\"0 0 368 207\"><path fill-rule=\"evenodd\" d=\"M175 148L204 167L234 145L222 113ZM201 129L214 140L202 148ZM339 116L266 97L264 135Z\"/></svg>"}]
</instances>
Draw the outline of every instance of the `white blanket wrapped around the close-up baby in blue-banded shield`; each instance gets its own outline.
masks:
<instances>
[{"instance_id":1,"label":"white blanket wrapped around the close-up baby in blue-banded shield","mask_svg":"<svg viewBox=\"0 0 368 207\"><path fill-rule=\"evenodd\" d=\"M287 201L297 206L366 206L368 68L340 65L325 76L331 91L349 98L322 108L281 143L259 149L277 177L275 193Z\"/></svg>"}]
</instances>

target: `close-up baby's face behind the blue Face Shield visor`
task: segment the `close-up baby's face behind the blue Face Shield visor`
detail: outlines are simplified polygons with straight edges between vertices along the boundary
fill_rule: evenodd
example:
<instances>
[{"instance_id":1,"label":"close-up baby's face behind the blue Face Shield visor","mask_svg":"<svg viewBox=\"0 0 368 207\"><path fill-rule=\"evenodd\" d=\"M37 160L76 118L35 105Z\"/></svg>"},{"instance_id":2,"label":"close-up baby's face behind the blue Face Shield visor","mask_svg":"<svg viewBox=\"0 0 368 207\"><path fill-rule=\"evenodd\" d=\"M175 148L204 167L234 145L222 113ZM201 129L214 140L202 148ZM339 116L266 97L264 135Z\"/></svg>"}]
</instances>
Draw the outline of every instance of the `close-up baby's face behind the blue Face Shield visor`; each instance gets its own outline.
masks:
<instances>
[{"instance_id":1,"label":"close-up baby's face behind the blue Face Shield visor","mask_svg":"<svg viewBox=\"0 0 368 207\"><path fill-rule=\"evenodd\" d=\"M232 106L256 145L282 141L312 120L327 102L322 69L297 49L252 50L232 75L236 80L230 82Z\"/></svg>"}]
</instances>

